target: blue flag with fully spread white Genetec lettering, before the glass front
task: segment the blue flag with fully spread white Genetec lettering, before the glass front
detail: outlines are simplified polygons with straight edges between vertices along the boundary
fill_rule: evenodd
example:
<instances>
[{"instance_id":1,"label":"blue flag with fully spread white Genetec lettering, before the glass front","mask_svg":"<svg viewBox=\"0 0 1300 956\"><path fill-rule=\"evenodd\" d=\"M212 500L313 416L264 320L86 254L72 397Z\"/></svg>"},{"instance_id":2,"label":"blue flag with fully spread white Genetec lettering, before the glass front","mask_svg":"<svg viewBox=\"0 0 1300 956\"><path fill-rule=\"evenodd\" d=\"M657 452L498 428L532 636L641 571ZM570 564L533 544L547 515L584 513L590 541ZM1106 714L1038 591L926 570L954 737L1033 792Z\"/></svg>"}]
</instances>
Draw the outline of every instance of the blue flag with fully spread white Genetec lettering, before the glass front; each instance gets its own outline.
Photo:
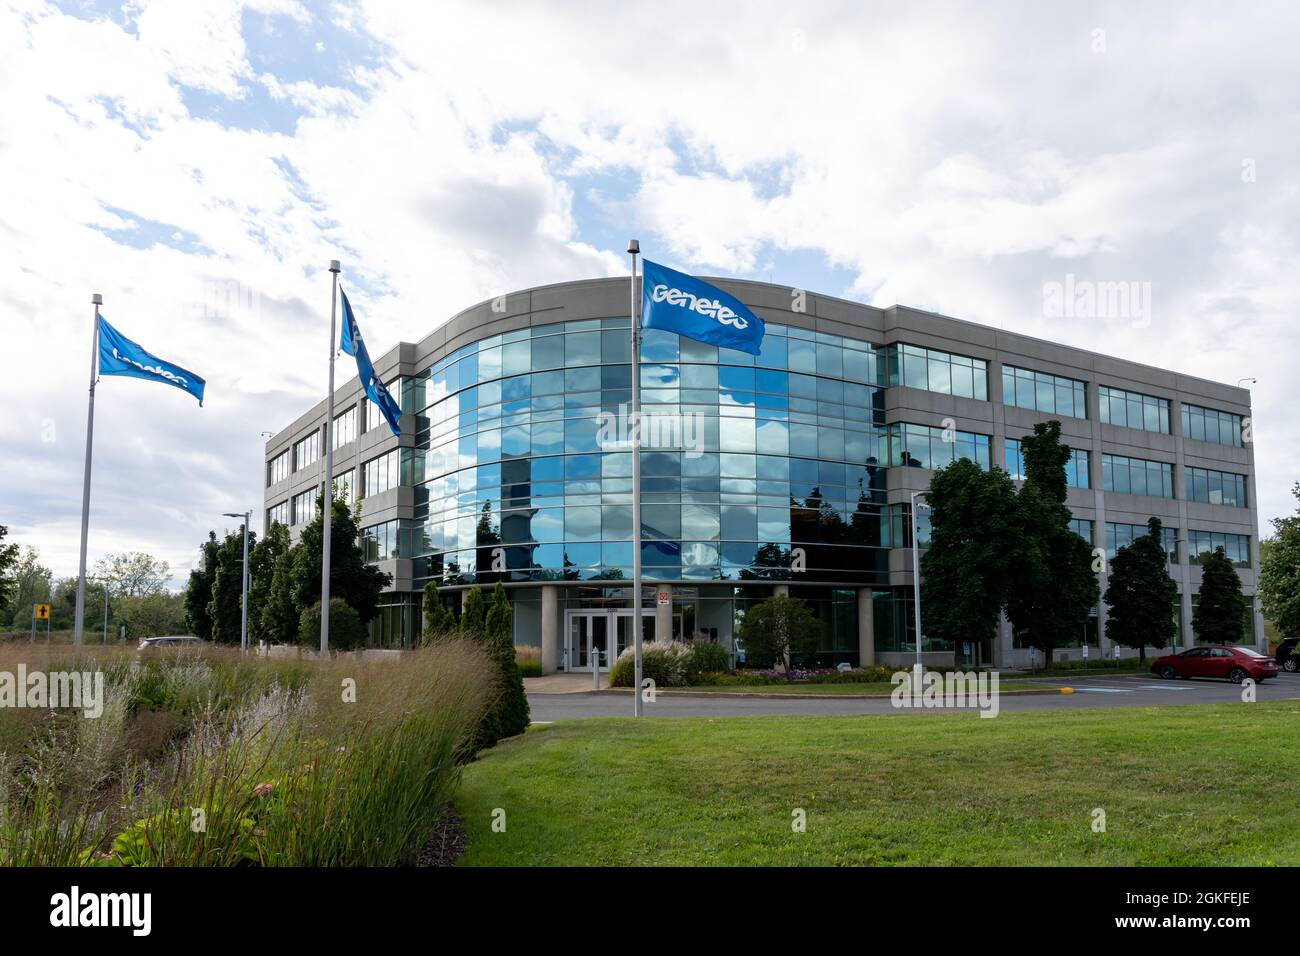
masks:
<instances>
[{"instance_id":1,"label":"blue flag with fully spread white Genetec lettering, before the glass front","mask_svg":"<svg viewBox=\"0 0 1300 956\"><path fill-rule=\"evenodd\" d=\"M758 355L763 320L734 295L649 259L641 284L641 328Z\"/></svg>"}]
</instances>

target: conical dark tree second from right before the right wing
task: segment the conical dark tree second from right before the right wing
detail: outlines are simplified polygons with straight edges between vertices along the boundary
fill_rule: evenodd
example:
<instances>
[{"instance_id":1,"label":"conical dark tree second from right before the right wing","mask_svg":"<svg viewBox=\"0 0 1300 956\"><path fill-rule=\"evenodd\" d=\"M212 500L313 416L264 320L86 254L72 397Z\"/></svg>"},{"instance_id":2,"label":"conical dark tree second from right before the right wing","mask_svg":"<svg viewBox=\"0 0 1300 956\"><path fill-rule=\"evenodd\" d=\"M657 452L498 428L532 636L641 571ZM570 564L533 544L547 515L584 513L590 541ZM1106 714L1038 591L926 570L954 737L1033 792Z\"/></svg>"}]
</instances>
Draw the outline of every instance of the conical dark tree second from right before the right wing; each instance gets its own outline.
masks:
<instances>
[{"instance_id":1,"label":"conical dark tree second from right before the right wing","mask_svg":"<svg viewBox=\"0 0 1300 956\"><path fill-rule=\"evenodd\" d=\"M1106 636L1122 648L1136 648L1147 659L1147 646L1174 643L1174 601L1178 585L1169 576L1169 558L1158 518L1147 522L1147 533L1121 548L1110 562L1106 583Z\"/></svg>"}]
</instances>

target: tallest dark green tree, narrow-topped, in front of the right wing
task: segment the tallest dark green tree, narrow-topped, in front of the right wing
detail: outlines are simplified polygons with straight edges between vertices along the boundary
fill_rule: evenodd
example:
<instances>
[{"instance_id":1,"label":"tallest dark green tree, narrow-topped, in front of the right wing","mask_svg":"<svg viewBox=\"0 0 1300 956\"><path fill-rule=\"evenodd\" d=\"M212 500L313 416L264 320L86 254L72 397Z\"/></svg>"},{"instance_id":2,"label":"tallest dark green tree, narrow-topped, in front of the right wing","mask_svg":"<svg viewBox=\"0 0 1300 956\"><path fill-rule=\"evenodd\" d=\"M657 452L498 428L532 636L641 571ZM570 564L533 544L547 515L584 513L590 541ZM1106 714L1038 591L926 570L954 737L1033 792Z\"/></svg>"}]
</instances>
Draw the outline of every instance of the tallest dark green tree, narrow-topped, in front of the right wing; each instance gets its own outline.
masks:
<instances>
[{"instance_id":1,"label":"tallest dark green tree, narrow-topped, in front of the right wing","mask_svg":"<svg viewBox=\"0 0 1300 956\"><path fill-rule=\"evenodd\" d=\"M1050 662L1056 648L1080 640L1100 587L1092 571L1092 542L1070 527L1061 423L1040 421L1020 440L1024 486L1017 496L1019 528L1008 555L1011 587L1006 617Z\"/></svg>"}]
</instances>

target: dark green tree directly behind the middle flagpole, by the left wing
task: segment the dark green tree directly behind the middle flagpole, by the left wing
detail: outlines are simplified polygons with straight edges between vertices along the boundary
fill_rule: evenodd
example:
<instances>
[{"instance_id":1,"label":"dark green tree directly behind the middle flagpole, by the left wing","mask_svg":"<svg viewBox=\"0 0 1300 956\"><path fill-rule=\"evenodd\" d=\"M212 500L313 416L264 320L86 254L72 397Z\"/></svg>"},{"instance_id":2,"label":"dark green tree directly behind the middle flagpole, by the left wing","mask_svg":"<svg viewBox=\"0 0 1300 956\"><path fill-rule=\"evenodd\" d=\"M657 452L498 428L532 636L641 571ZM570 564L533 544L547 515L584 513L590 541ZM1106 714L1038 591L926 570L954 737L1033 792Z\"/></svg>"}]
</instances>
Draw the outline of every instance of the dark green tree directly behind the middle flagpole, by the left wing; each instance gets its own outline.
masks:
<instances>
[{"instance_id":1,"label":"dark green tree directly behind the middle flagpole, by the left wing","mask_svg":"<svg viewBox=\"0 0 1300 956\"><path fill-rule=\"evenodd\" d=\"M368 624L378 614L380 594L393 578L365 563L358 527L360 507L358 503L354 511L342 497L334 499L330 516L329 593L330 598L338 597L350 604L361 623ZM320 605L322 524L317 506L316 516L303 528L292 550L294 604L298 607Z\"/></svg>"}]
</instances>

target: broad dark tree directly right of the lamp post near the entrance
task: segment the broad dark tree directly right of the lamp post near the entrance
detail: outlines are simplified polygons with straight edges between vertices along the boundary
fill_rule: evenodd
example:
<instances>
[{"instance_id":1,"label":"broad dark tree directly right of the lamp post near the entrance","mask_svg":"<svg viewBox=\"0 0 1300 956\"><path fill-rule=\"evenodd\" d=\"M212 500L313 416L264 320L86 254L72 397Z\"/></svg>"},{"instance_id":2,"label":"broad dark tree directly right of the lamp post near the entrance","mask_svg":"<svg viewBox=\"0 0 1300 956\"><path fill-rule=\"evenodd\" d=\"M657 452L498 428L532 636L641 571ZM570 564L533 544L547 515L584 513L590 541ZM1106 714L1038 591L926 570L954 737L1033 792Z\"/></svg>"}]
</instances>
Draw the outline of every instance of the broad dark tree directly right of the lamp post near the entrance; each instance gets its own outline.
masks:
<instances>
[{"instance_id":1,"label":"broad dark tree directly right of the lamp post near the entrance","mask_svg":"<svg viewBox=\"0 0 1300 956\"><path fill-rule=\"evenodd\" d=\"M935 472L930 548L920 559L922 631L962 646L993 639L1006 598L1005 554L1018 529L1015 488L1000 468L958 458Z\"/></svg>"}]
</instances>

